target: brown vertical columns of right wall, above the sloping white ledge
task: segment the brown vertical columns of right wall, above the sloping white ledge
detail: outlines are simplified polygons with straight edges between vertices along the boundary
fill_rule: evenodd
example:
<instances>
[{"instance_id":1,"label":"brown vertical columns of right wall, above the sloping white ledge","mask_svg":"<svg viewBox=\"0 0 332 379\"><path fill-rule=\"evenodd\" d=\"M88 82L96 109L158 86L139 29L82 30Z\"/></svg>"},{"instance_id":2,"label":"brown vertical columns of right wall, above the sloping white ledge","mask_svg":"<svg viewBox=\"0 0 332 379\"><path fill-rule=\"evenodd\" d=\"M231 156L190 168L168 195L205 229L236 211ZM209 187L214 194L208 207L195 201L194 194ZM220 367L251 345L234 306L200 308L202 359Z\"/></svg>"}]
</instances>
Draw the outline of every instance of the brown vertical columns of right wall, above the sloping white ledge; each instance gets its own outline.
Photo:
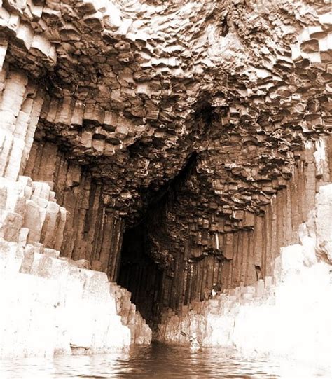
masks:
<instances>
[{"instance_id":1,"label":"brown vertical columns of right wall, above the sloping white ledge","mask_svg":"<svg viewBox=\"0 0 332 379\"><path fill-rule=\"evenodd\" d=\"M325 145L324 141L329 145ZM147 284L148 291L152 291L151 296L159 299L159 308L169 308L167 312L171 315L186 309L191 301L209 298L213 288L217 291L232 289L252 285L263 277L270 277L275 270L274 261L279 256L281 247L298 243L298 227L307 221L314 208L315 194L321 185L331 181L331 167L328 166L327 160L322 160L328 155L328 151L331 154L331 142L331 138L317 142L317 151L314 146L307 146L293 169L292 179L288 183L285 182L283 188L279 189L277 195L273 196L270 204L265 207L264 217L252 216L247 227L233 233L220 233L224 220L214 219L214 233L203 230L199 235L199 245L205 252L197 254L197 250L193 251L189 249L188 243L185 244L184 249L179 248L179 259L170 263L162 277L158 277L158 270L155 270L154 275L148 276L148 273L153 273L151 263L144 263L139 250L141 247L135 244L131 251L129 249L128 263L126 270L123 270L125 280L121 281L127 288L138 289L138 293L133 293L135 302L141 303L146 312L146 287L134 284L139 281L139 277L135 276L136 266L139 264L146 270L148 281L153 281ZM167 210L158 209L159 213L164 212L162 214L165 219L170 216L170 212L177 212L177 203L174 204L172 195L166 201ZM157 212L157 209L154 209L154 212ZM147 228L154 230L155 235L161 234L160 229L165 228L165 223L157 222L153 214L149 216L151 223L148 221ZM331 218L332 214L327 213L326 216ZM205 228L207 229L207 226ZM331 228L329 232L332 233ZM137 237L132 236L137 240ZM191 233L191 238L195 242L195 232ZM126 250L123 253L125 254ZM326 247L326 254L330 254L331 259L331 247ZM134 255L137 256L136 259ZM126 259L125 255L123 259ZM162 286L158 285L160 280ZM155 308L154 305L150 312L155 312ZM167 312L165 310L166 314ZM148 317L147 312L145 316Z\"/></svg>"}]
</instances>

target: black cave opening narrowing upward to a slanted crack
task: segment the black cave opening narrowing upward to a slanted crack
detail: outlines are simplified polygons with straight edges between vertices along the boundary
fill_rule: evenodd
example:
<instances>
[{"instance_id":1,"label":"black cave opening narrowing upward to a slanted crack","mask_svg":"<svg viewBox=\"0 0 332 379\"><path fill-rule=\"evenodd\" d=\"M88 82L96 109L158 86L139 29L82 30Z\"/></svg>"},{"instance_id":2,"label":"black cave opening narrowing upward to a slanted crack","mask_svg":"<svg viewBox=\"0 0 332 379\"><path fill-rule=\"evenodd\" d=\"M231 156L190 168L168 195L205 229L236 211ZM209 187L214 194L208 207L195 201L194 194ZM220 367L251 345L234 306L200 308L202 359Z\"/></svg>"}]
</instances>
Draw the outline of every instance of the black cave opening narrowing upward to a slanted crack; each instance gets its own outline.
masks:
<instances>
[{"instance_id":1,"label":"black cave opening narrowing upward to a slanted crack","mask_svg":"<svg viewBox=\"0 0 332 379\"><path fill-rule=\"evenodd\" d=\"M195 151L191 153L177 176L160 187L158 191L146 189L142 194L148 203L144 218L139 224L127 228L123 233L117 282L132 293L132 303L137 306L137 310L151 328L159 324L165 308L170 305L174 308L174 301L179 302L175 300L179 297L178 289L174 288L174 284L170 286L175 262L163 261L163 253L168 251L172 243L165 219L168 212L176 206L177 201L181 201L177 199L178 195L181 193L186 177L195 170L197 156ZM177 255L181 256L179 252ZM168 256L172 257L172 255ZM170 299L165 298L165 292Z\"/></svg>"}]
</instances>

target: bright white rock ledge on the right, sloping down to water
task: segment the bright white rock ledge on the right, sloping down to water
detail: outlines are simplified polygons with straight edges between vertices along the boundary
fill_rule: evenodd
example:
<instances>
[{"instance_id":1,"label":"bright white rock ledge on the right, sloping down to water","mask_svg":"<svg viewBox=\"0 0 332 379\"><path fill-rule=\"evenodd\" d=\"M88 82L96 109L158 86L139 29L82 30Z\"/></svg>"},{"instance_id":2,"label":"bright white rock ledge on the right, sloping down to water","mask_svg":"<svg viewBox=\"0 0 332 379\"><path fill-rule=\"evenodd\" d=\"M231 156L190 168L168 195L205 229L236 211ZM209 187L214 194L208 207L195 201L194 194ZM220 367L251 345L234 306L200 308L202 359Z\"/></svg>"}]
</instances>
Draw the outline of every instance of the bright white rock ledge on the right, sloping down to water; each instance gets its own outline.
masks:
<instances>
[{"instance_id":1,"label":"bright white rock ledge on the right, sloping down to water","mask_svg":"<svg viewBox=\"0 0 332 379\"><path fill-rule=\"evenodd\" d=\"M158 326L158 340L188 345L193 340L194 346L235 347L254 359L265 359L267 355L276 361L286 359L287 363L295 359L306 370L319 367L328 376L331 181L317 180L317 191L314 196L310 193L310 199L314 202L305 205L310 210L305 223L299 225L297 233L292 228L290 244L283 245L272 261L271 276L251 285L224 289L205 301L192 301L180 312L165 312ZM293 375L296 377L297 371Z\"/></svg>"}]
</instances>

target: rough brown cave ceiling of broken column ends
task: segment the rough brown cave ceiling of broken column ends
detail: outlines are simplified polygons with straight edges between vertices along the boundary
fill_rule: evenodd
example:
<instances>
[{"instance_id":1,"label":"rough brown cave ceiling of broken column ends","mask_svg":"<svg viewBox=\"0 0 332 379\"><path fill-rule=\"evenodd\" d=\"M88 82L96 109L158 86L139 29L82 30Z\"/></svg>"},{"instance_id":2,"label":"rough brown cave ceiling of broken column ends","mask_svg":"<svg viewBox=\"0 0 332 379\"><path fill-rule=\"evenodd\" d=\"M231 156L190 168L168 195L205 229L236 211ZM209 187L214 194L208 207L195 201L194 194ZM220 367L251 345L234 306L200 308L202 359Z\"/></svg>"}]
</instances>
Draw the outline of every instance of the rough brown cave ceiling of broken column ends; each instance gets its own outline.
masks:
<instances>
[{"instance_id":1,"label":"rough brown cave ceiling of broken column ends","mask_svg":"<svg viewBox=\"0 0 332 379\"><path fill-rule=\"evenodd\" d=\"M128 223L187 167L175 231L251 228L331 128L329 1L3 6L6 60L45 91L36 138L88 166Z\"/></svg>"}]
</instances>

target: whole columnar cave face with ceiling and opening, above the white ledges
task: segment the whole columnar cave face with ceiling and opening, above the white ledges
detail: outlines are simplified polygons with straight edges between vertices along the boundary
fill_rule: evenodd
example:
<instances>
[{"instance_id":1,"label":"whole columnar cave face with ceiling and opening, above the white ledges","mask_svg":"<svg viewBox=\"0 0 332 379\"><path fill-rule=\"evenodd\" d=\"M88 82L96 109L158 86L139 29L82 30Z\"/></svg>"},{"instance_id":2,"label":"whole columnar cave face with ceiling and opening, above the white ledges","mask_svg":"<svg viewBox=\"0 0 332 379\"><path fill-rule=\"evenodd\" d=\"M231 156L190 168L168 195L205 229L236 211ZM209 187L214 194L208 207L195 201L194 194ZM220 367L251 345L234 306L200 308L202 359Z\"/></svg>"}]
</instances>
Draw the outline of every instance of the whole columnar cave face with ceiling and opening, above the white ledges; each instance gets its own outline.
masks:
<instances>
[{"instance_id":1,"label":"whole columnar cave face with ceiling and opening, above the white ledges","mask_svg":"<svg viewBox=\"0 0 332 379\"><path fill-rule=\"evenodd\" d=\"M21 274L26 254L104 272L155 326L274 273L331 180L329 1L0 4L0 233Z\"/></svg>"}]
</instances>

